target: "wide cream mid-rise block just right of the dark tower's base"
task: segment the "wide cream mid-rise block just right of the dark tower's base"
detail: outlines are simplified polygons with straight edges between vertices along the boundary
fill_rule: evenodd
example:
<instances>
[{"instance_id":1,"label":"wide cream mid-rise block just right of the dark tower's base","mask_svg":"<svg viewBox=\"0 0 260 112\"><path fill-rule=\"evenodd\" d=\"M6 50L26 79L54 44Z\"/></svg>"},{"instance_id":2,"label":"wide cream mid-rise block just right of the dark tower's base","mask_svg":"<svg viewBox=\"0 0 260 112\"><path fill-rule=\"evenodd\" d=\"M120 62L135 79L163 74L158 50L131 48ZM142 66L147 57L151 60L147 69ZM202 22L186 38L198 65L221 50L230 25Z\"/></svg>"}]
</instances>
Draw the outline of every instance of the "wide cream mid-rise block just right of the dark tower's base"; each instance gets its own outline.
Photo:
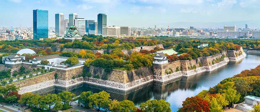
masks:
<instances>
[{"instance_id":1,"label":"wide cream mid-rise block just right of the dark tower's base","mask_svg":"<svg viewBox=\"0 0 260 112\"><path fill-rule=\"evenodd\" d=\"M120 27L116 27L116 26L103 27L102 35L104 37L119 37Z\"/></svg>"}]
</instances>

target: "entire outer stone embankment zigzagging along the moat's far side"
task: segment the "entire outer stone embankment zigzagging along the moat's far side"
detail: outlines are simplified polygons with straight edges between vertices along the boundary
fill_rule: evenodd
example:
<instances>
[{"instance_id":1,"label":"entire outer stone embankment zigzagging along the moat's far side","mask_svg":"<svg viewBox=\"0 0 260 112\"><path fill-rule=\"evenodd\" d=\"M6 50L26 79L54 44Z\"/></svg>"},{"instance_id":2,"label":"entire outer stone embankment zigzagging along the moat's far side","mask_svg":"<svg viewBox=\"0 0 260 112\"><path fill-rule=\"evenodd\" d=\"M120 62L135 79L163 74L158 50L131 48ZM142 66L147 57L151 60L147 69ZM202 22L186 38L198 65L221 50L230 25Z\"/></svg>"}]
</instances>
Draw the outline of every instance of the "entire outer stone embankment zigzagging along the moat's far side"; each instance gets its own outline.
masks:
<instances>
[{"instance_id":1,"label":"entire outer stone embankment zigzagging along the moat's far side","mask_svg":"<svg viewBox=\"0 0 260 112\"><path fill-rule=\"evenodd\" d=\"M194 60L178 60L161 65L153 64L153 67L141 67L132 71L106 71L100 67L86 67L84 65L66 69L54 68L52 73L27 79L15 83L15 85L20 87L19 93L33 92L54 85L67 88L80 83L98 85L104 88L115 89L116 91L129 91L141 88L153 81L169 82L181 77L212 71L227 65L229 61L238 61L245 56L243 49L223 51L213 56L200 57ZM56 77L54 77L55 74ZM83 78L82 75L85 75L85 77Z\"/></svg>"}]
</instances>

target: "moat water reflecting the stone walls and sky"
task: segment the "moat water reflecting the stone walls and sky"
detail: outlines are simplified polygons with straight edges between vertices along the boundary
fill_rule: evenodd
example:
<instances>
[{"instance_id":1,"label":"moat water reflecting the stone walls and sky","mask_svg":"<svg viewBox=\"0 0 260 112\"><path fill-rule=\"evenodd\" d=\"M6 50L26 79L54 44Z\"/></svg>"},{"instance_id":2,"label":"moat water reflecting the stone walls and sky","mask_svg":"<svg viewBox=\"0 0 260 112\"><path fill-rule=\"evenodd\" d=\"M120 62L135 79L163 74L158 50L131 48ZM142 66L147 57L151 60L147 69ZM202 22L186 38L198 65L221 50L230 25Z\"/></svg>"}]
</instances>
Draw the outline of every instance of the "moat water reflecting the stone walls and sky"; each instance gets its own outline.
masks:
<instances>
[{"instance_id":1,"label":"moat water reflecting the stone walls and sky","mask_svg":"<svg viewBox=\"0 0 260 112\"><path fill-rule=\"evenodd\" d=\"M202 90L208 90L209 87L216 85L221 80L232 77L233 75L240 73L242 70L254 68L259 65L259 63L260 56L247 55L247 57L239 62L229 62L228 65L211 72L204 72L188 78L182 77L165 83L149 83L141 89L132 90L126 94L122 91L97 87L89 84L79 84L69 88L50 87L44 90L35 91L35 93L58 93L62 90L69 90L76 95L79 95L81 92L88 90L91 90L94 93L106 90L111 93L111 99L117 99L119 101L125 99L131 100L137 106L147 100L165 99L171 104L171 109L174 112L178 110L178 107L181 107L182 101L187 97L195 96Z\"/></svg>"}]
</instances>

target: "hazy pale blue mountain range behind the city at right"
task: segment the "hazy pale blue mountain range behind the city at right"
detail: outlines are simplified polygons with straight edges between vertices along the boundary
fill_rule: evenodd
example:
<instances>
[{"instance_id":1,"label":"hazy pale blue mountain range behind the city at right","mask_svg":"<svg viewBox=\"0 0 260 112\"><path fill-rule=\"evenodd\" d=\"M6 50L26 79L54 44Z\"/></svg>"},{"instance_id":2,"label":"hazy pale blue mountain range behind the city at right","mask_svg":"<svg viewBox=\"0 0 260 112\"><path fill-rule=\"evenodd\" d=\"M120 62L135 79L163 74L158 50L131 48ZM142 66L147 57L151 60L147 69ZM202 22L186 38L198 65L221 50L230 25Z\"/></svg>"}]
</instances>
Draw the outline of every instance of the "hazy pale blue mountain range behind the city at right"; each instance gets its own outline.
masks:
<instances>
[{"instance_id":1,"label":"hazy pale blue mountain range behind the city at right","mask_svg":"<svg viewBox=\"0 0 260 112\"><path fill-rule=\"evenodd\" d=\"M245 28L248 24L248 28L260 28L260 20L248 20L248 21L233 21L233 22L174 22L174 23L161 23L158 26L170 26L170 27L190 27L194 28L223 28L223 26L234 26L237 28Z\"/></svg>"}]
</instances>

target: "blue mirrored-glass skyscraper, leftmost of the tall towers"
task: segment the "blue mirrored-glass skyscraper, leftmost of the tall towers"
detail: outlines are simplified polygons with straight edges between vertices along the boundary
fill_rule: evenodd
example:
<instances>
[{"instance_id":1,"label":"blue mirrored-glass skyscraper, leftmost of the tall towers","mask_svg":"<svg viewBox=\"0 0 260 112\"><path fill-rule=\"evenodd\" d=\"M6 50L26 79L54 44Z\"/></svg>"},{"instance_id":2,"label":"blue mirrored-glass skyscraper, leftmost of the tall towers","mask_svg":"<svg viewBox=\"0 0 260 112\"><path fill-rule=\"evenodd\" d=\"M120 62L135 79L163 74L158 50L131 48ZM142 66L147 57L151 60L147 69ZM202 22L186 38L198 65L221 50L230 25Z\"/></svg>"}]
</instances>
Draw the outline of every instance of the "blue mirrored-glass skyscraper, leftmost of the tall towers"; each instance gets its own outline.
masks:
<instances>
[{"instance_id":1,"label":"blue mirrored-glass skyscraper, leftmost of the tall towers","mask_svg":"<svg viewBox=\"0 0 260 112\"><path fill-rule=\"evenodd\" d=\"M33 10L33 39L48 38L48 11Z\"/></svg>"}]
</instances>

